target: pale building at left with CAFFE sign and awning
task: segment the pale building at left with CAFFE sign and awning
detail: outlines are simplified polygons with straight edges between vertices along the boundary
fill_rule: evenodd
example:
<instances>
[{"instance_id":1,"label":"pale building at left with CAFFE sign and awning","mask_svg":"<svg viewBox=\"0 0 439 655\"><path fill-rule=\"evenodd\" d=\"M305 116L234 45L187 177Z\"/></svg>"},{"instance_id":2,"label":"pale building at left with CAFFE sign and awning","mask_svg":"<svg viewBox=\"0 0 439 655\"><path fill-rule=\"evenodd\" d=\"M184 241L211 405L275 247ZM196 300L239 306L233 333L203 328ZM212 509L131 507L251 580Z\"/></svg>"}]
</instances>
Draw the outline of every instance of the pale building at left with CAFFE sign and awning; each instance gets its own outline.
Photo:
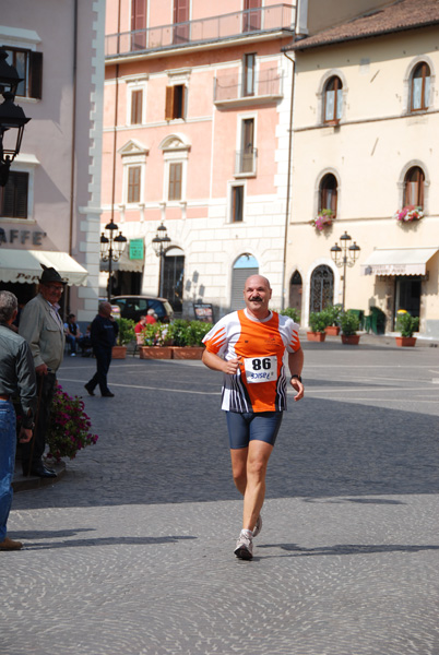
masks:
<instances>
[{"instance_id":1,"label":"pale building at left with CAFFE sign and awning","mask_svg":"<svg viewBox=\"0 0 439 655\"><path fill-rule=\"evenodd\" d=\"M54 265L80 321L98 295L104 23L105 0L1 3L0 46L32 120L0 187L0 288L26 301L39 263Z\"/></svg>"}]
</instances>

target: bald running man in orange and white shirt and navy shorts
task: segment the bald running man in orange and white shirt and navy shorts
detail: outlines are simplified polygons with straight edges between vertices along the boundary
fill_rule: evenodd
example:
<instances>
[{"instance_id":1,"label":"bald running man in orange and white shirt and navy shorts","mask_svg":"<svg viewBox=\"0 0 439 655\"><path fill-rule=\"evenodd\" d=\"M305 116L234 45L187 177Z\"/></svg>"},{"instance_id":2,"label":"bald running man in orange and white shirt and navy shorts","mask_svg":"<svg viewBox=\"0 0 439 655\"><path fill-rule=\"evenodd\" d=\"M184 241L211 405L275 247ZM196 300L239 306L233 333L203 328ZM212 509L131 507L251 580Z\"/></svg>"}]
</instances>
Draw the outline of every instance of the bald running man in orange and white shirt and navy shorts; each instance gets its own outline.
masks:
<instances>
[{"instance_id":1,"label":"bald running man in orange and white shirt and navy shorts","mask_svg":"<svg viewBox=\"0 0 439 655\"><path fill-rule=\"evenodd\" d=\"M224 373L222 409L227 417L232 473L244 496L235 555L245 560L252 559L253 537L262 528L266 466L286 409L285 350L290 384L297 392L294 400L304 397L298 325L269 309L271 296L266 277L251 275L244 288L246 309L221 319L203 340L203 364Z\"/></svg>"}]
</instances>

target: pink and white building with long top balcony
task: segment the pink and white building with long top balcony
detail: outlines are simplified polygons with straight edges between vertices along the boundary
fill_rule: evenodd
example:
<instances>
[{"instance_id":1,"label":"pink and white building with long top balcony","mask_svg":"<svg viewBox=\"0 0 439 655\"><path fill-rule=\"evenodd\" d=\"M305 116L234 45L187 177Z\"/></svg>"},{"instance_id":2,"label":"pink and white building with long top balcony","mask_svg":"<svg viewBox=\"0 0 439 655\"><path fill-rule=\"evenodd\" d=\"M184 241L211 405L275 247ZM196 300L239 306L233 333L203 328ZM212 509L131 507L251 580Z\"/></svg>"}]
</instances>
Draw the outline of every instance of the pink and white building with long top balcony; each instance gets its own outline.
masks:
<instances>
[{"instance_id":1,"label":"pink and white building with long top balcony","mask_svg":"<svg viewBox=\"0 0 439 655\"><path fill-rule=\"evenodd\" d=\"M129 240L114 295L157 295L163 264L176 311L216 319L257 270L281 306L294 22L290 0L107 0L103 223Z\"/></svg>"}]
</instances>

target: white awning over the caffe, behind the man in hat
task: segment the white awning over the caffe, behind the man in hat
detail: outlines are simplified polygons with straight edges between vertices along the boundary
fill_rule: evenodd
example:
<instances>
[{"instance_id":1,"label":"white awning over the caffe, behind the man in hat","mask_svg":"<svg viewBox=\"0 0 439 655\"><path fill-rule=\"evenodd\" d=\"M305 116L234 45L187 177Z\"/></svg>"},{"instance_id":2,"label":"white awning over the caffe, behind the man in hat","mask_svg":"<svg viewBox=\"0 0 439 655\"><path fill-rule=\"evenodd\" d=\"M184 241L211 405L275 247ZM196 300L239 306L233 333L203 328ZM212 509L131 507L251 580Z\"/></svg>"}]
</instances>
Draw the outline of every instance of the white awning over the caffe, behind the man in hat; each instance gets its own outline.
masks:
<instances>
[{"instance_id":1,"label":"white awning over the caffe, behind the man in hat","mask_svg":"<svg viewBox=\"0 0 439 655\"><path fill-rule=\"evenodd\" d=\"M35 284L45 266L54 267L69 285L85 286L87 271L67 252L0 248L0 281Z\"/></svg>"}]
</instances>

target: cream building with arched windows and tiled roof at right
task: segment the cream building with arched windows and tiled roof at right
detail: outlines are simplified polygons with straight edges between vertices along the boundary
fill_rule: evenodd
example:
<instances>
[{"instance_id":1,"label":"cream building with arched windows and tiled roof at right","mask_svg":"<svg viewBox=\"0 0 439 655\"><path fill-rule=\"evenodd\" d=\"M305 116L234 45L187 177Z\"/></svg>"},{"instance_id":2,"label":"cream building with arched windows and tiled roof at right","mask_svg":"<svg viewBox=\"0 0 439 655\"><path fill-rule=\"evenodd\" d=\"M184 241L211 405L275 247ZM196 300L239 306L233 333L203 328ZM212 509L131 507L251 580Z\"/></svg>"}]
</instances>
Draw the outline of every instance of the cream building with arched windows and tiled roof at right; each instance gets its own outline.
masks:
<instances>
[{"instance_id":1,"label":"cream building with arched windows and tiled roof at right","mask_svg":"<svg viewBox=\"0 0 439 655\"><path fill-rule=\"evenodd\" d=\"M439 4L336 2L332 27L322 4L299 4L290 48L289 301L306 325L310 311L342 302L345 293L346 309L380 308L387 332L406 309L420 317L422 334L437 337ZM420 219L399 221L405 206ZM311 222L323 210L331 222L318 229ZM351 241L340 241L345 233ZM354 241L359 257L343 279L331 248Z\"/></svg>"}]
</instances>

